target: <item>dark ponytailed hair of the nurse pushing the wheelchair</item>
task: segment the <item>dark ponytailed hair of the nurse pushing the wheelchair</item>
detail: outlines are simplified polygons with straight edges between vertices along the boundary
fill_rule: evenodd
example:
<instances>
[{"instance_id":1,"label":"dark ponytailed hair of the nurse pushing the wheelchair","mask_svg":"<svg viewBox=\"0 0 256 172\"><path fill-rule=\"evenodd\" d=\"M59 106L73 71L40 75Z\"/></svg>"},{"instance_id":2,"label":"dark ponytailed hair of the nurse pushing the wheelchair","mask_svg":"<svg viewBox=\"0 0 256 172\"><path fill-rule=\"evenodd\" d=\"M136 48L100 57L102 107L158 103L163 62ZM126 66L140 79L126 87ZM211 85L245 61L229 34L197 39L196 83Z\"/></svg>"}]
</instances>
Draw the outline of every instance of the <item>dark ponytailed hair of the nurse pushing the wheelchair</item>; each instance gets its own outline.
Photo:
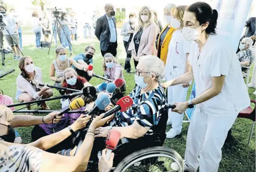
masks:
<instances>
[{"instance_id":1,"label":"dark ponytailed hair of the nurse pushing the wheelchair","mask_svg":"<svg viewBox=\"0 0 256 172\"><path fill-rule=\"evenodd\" d=\"M213 10L209 4L205 2L196 2L187 7L186 11L195 13L197 21L202 25L206 22L209 22L208 27L205 29L205 32L210 35L216 34L216 26L218 19L217 10Z\"/></svg>"}]
</instances>

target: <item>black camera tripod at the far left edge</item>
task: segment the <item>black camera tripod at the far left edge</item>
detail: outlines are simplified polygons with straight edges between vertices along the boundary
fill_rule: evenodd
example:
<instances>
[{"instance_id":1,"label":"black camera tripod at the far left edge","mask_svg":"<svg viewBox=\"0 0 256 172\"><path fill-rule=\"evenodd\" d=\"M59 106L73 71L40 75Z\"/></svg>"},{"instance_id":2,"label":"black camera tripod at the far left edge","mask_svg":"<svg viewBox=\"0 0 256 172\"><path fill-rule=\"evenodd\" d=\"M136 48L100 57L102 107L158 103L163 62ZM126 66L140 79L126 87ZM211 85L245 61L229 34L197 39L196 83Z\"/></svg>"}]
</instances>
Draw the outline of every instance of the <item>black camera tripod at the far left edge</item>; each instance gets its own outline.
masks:
<instances>
[{"instance_id":1,"label":"black camera tripod at the far left edge","mask_svg":"<svg viewBox=\"0 0 256 172\"><path fill-rule=\"evenodd\" d=\"M15 46L18 47L19 51L21 52L19 45L17 45L17 43L14 41L12 35L6 28L6 24L3 22L3 16L0 15L0 51L1 51L1 57L2 57L2 65L5 65L5 52L4 52L4 43L3 43L3 41L4 41L3 30L4 29L8 32L8 34L11 37L12 41L14 42ZM24 56L24 54L22 52L21 52L21 54L22 54L22 56Z\"/></svg>"}]
</instances>

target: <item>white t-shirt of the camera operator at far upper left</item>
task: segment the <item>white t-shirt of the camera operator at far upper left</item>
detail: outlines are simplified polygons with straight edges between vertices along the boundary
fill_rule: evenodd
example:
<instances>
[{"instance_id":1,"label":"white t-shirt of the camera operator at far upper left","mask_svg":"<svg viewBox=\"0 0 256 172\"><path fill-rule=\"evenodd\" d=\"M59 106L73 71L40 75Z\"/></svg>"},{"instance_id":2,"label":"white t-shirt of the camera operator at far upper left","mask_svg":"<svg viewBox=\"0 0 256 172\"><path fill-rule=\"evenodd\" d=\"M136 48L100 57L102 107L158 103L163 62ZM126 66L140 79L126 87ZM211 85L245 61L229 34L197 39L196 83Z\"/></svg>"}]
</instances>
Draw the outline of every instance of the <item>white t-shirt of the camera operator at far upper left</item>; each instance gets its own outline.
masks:
<instances>
[{"instance_id":1,"label":"white t-shirt of the camera operator at far upper left","mask_svg":"<svg viewBox=\"0 0 256 172\"><path fill-rule=\"evenodd\" d=\"M5 28L10 32L11 35L18 34L18 32L14 33L17 26L16 23L18 22L18 19L16 17L11 14L7 14L6 16L3 16L3 22L6 24ZM5 28L3 30L3 34L9 35Z\"/></svg>"}]
</instances>

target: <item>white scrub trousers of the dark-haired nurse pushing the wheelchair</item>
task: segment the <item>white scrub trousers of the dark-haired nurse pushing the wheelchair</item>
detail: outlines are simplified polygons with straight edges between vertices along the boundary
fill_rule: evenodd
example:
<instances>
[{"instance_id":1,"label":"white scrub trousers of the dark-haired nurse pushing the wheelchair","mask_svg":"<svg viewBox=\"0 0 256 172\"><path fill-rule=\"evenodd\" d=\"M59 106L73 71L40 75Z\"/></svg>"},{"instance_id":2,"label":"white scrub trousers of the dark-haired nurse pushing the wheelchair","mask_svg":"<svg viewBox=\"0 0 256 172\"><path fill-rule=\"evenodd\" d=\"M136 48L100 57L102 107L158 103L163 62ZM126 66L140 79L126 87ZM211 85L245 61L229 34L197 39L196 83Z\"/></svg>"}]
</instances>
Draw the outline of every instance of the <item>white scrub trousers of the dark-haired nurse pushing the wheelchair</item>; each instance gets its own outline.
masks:
<instances>
[{"instance_id":1,"label":"white scrub trousers of the dark-haired nurse pushing the wheelchair","mask_svg":"<svg viewBox=\"0 0 256 172\"><path fill-rule=\"evenodd\" d=\"M217 172L222 158L221 148L238 111L213 114L198 107L192 116L186 143L185 163L195 172ZM200 157L200 161L199 158Z\"/></svg>"}]
</instances>

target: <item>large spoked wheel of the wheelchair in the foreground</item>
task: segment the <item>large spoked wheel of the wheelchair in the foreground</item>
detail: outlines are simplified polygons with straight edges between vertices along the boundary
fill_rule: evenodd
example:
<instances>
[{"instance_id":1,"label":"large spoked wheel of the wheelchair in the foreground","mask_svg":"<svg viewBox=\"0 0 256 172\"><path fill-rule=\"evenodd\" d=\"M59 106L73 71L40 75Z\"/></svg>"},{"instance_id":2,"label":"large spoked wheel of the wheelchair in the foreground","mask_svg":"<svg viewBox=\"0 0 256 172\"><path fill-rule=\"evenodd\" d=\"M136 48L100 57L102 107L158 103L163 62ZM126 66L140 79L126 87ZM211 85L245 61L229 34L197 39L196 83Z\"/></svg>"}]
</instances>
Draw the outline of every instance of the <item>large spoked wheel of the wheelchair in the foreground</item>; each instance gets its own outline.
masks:
<instances>
[{"instance_id":1,"label":"large spoked wheel of the wheelchair in the foreground","mask_svg":"<svg viewBox=\"0 0 256 172\"><path fill-rule=\"evenodd\" d=\"M167 147L149 147L130 154L123 159L114 172L171 172L171 163L176 162L179 172L184 172L181 156Z\"/></svg>"}]
</instances>

